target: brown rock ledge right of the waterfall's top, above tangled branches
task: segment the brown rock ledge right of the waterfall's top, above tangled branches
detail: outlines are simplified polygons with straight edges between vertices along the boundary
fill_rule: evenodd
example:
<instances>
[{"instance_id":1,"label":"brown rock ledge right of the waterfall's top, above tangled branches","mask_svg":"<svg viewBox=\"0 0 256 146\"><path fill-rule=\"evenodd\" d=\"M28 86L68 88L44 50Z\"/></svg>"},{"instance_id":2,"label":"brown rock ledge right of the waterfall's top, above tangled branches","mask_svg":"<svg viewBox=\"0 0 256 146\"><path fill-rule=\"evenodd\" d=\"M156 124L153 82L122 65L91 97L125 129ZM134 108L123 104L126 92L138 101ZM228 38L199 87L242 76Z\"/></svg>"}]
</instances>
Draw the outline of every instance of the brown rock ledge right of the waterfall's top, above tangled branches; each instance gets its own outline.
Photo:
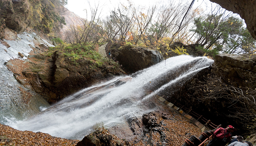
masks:
<instances>
[{"instance_id":1,"label":"brown rock ledge right of the waterfall's top, above tangled branches","mask_svg":"<svg viewBox=\"0 0 256 146\"><path fill-rule=\"evenodd\" d=\"M219 54L215 57L213 73L226 82L234 82L235 87L256 87L256 55Z\"/></svg>"}]
</instances>

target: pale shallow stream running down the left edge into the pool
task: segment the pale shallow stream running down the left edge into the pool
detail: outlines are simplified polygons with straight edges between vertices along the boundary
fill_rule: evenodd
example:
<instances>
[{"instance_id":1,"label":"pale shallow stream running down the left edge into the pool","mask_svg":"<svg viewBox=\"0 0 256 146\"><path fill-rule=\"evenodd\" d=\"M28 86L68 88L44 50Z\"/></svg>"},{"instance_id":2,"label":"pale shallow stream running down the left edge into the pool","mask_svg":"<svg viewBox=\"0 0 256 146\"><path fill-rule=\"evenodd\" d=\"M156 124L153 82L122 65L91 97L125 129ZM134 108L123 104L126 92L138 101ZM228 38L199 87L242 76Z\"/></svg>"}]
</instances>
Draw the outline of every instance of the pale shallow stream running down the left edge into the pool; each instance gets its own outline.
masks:
<instances>
[{"instance_id":1,"label":"pale shallow stream running down the left edge into the pool","mask_svg":"<svg viewBox=\"0 0 256 146\"><path fill-rule=\"evenodd\" d=\"M12 37L12 35L10 34L9 37ZM40 98L31 99L29 104L24 103L19 88L27 89L15 80L13 73L8 70L4 62L20 58L18 52L29 55L28 53L32 50L29 44L34 46L35 41L39 44L53 45L34 32L22 32L15 37L17 39L13 39L16 40L4 40L11 46L9 48L0 43L0 123L2 124L7 124L9 119L12 118L15 120L24 119L28 115L31 116L40 112L42 107L49 106L44 99ZM20 59L25 60L26 57Z\"/></svg>"}]
</instances>

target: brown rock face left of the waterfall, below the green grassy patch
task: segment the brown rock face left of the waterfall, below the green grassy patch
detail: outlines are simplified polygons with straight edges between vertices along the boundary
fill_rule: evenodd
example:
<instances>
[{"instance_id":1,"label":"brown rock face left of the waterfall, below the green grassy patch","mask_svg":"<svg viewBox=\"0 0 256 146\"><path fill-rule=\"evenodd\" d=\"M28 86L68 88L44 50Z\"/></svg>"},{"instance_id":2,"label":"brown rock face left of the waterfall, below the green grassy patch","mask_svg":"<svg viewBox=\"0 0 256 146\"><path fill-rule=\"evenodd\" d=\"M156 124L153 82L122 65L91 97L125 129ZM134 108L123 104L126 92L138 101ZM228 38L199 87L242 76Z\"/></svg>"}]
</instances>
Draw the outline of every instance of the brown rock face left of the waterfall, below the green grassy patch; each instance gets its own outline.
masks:
<instances>
[{"instance_id":1,"label":"brown rock face left of the waterfall, below the green grassy patch","mask_svg":"<svg viewBox=\"0 0 256 146\"><path fill-rule=\"evenodd\" d=\"M91 86L113 75L121 74L115 66L91 67L90 60L80 59L77 64L55 52L52 57L29 55L23 64L26 67L16 73L16 80L25 87L44 96L49 103L55 103L63 97L82 88ZM131 78L120 79L115 84L121 85Z\"/></svg>"}]
</instances>

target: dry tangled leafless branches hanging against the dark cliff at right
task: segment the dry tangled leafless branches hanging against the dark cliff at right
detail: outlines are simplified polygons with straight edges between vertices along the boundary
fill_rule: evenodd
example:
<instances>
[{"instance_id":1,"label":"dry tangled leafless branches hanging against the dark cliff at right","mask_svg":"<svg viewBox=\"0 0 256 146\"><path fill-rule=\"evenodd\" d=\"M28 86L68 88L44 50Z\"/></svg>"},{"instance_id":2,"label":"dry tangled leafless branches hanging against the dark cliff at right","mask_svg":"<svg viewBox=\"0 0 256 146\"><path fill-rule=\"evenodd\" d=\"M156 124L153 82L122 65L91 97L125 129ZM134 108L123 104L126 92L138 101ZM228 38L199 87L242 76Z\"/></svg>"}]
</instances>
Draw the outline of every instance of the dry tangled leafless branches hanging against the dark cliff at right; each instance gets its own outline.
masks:
<instances>
[{"instance_id":1,"label":"dry tangled leafless branches hanging against the dark cliff at right","mask_svg":"<svg viewBox=\"0 0 256 146\"><path fill-rule=\"evenodd\" d=\"M217 100L228 105L228 117L236 118L245 123L245 128L256 129L256 90L248 87L235 87L234 83L225 82L221 77L204 76L203 81L197 80L197 85L191 85L190 90L194 91L194 95L190 97L196 98L201 102L205 100Z\"/></svg>"}]
</instances>

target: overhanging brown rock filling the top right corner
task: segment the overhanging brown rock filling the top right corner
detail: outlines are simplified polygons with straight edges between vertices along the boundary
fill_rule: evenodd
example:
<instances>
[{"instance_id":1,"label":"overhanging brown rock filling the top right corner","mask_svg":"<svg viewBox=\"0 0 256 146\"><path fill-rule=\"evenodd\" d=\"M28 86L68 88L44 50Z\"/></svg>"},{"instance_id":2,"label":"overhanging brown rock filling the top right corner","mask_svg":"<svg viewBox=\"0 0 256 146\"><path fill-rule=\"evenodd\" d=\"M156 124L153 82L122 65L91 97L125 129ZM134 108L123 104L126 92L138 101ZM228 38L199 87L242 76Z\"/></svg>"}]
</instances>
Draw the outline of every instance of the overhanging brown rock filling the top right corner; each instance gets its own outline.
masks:
<instances>
[{"instance_id":1,"label":"overhanging brown rock filling the top right corner","mask_svg":"<svg viewBox=\"0 0 256 146\"><path fill-rule=\"evenodd\" d=\"M237 13L244 19L247 29L251 33L252 37L256 39L256 1L243 1L243 0L210 0L211 2L219 4L221 7Z\"/></svg>"}]
</instances>

